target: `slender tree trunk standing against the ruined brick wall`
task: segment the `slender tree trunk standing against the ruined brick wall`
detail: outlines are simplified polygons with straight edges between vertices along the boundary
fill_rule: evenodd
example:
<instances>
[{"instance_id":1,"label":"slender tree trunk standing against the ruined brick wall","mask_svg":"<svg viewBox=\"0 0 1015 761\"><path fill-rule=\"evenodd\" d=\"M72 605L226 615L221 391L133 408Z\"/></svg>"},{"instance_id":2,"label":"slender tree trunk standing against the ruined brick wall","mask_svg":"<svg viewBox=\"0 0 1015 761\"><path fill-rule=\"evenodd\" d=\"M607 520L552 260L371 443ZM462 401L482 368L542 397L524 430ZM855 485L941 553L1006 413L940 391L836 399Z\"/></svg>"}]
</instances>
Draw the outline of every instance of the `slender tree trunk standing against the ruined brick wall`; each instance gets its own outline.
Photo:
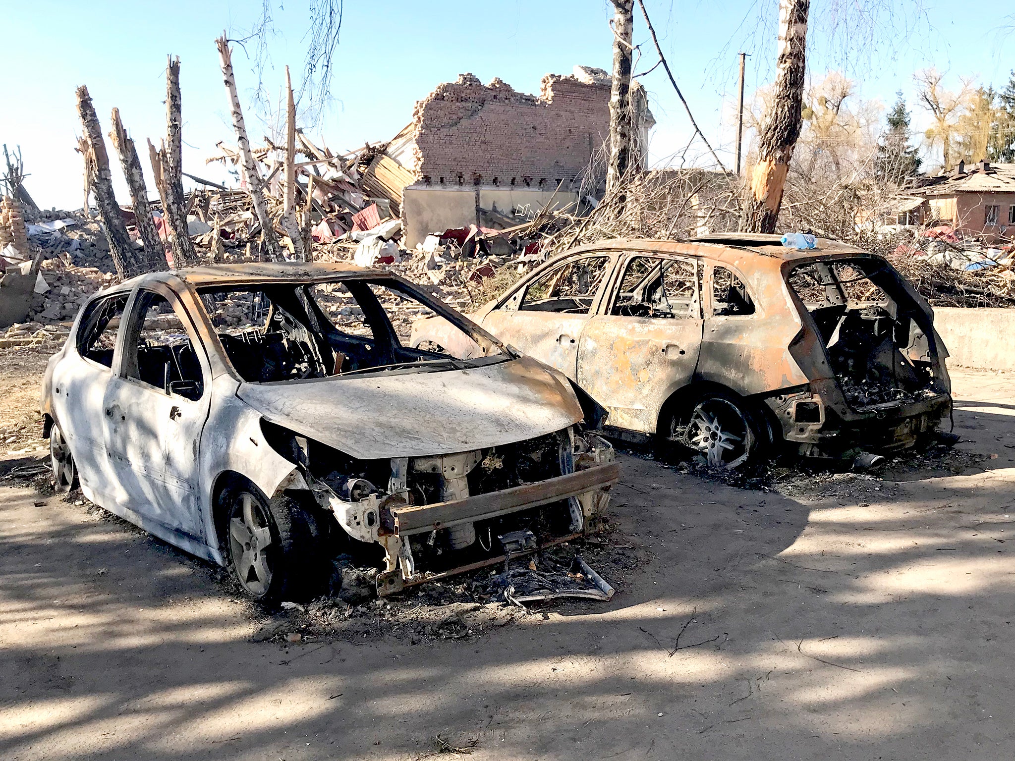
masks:
<instances>
[{"instance_id":1,"label":"slender tree trunk standing against the ruined brick wall","mask_svg":"<svg viewBox=\"0 0 1015 761\"><path fill-rule=\"evenodd\" d=\"M634 0L613 0L613 86L610 90L610 163L606 169L606 194L619 188L631 160L634 110L631 108L631 36ZM619 210L623 210L621 199Z\"/></svg>"}]
</instances>

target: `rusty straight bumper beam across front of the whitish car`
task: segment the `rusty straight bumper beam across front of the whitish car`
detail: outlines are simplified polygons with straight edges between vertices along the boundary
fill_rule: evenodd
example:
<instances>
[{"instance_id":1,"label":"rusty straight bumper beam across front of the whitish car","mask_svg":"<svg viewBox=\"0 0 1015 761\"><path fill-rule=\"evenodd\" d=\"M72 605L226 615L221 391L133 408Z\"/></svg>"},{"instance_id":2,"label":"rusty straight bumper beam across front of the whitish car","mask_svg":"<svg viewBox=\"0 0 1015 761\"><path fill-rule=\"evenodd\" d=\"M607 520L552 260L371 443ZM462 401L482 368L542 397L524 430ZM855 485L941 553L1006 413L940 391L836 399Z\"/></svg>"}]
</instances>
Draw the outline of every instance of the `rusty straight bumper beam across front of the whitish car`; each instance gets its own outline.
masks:
<instances>
[{"instance_id":1,"label":"rusty straight bumper beam across front of the whitish car","mask_svg":"<svg viewBox=\"0 0 1015 761\"><path fill-rule=\"evenodd\" d=\"M453 502L395 507L391 513L395 518L395 534L409 537L577 497L613 486L619 480L620 465L604 463L546 481L476 494Z\"/></svg>"}]
</instances>

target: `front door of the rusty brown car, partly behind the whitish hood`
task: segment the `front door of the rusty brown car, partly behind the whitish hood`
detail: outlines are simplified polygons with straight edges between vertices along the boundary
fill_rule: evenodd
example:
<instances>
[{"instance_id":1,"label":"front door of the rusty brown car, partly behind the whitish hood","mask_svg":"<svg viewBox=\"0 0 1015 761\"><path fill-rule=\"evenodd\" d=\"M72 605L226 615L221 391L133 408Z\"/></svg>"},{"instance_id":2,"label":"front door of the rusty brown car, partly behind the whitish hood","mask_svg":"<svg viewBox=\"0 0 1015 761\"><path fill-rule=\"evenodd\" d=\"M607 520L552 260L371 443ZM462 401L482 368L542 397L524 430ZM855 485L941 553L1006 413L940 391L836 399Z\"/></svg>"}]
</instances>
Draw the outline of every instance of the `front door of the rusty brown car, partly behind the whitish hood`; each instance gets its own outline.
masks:
<instances>
[{"instance_id":1,"label":"front door of the rusty brown car, partly behind the whitish hood","mask_svg":"<svg viewBox=\"0 0 1015 761\"><path fill-rule=\"evenodd\" d=\"M535 275L482 326L504 343L577 379L578 344L610 272L607 254L579 256Z\"/></svg>"}]
</instances>

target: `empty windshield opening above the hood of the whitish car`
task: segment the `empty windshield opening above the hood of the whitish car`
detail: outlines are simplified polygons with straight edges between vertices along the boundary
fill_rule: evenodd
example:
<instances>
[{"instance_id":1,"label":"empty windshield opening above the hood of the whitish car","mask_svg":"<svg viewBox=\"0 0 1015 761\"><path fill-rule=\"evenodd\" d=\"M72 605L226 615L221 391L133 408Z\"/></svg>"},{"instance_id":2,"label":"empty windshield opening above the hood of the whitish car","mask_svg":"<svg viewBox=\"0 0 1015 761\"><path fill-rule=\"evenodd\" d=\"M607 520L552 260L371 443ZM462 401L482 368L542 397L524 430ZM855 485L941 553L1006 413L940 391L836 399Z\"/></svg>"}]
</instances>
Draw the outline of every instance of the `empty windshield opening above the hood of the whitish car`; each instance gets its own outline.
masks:
<instances>
[{"instance_id":1,"label":"empty windshield opening above the hood of the whitish car","mask_svg":"<svg viewBox=\"0 0 1015 761\"><path fill-rule=\"evenodd\" d=\"M391 279L208 287L198 295L249 383L433 372L511 358L487 334L464 330L452 313ZM425 318L447 324L447 346L410 346L413 322Z\"/></svg>"}]
</instances>

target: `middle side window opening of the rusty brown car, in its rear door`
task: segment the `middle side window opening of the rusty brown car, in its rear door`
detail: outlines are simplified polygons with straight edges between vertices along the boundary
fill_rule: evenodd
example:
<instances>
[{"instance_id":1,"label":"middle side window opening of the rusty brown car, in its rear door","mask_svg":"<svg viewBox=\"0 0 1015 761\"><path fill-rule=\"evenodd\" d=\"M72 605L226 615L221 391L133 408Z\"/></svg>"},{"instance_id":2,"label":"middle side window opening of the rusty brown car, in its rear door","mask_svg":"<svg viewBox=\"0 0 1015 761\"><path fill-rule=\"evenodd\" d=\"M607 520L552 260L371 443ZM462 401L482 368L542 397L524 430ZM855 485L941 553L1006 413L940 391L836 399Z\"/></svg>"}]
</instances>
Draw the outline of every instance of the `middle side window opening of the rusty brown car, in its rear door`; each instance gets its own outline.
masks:
<instances>
[{"instance_id":1,"label":"middle side window opening of the rusty brown car, in its rear door","mask_svg":"<svg viewBox=\"0 0 1015 761\"><path fill-rule=\"evenodd\" d=\"M682 259L633 257L624 268L611 315L676 320L698 317L698 276Z\"/></svg>"}]
</instances>

